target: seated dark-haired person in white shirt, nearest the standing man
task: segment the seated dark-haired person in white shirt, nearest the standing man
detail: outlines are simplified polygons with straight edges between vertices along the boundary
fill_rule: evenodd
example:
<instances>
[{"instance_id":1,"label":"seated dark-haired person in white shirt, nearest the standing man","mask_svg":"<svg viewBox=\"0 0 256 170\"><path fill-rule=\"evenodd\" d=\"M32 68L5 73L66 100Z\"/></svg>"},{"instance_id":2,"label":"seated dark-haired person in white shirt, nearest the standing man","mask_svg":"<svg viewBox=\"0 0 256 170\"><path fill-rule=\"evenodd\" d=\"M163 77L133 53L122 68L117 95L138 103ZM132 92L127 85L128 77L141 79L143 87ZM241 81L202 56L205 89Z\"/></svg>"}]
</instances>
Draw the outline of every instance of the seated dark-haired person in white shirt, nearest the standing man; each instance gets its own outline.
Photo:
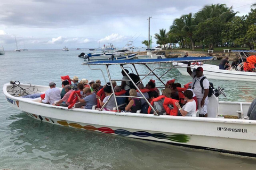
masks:
<instances>
[{"instance_id":1,"label":"seated dark-haired person in white shirt, nearest the standing man","mask_svg":"<svg viewBox=\"0 0 256 170\"><path fill-rule=\"evenodd\" d=\"M184 92L186 105L182 108L178 102L175 102L175 106L179 108L180 114L182 116L192 116L196 112L196 101L193 99L193 91L186 90Z\"/></svg>"}]
</instances>

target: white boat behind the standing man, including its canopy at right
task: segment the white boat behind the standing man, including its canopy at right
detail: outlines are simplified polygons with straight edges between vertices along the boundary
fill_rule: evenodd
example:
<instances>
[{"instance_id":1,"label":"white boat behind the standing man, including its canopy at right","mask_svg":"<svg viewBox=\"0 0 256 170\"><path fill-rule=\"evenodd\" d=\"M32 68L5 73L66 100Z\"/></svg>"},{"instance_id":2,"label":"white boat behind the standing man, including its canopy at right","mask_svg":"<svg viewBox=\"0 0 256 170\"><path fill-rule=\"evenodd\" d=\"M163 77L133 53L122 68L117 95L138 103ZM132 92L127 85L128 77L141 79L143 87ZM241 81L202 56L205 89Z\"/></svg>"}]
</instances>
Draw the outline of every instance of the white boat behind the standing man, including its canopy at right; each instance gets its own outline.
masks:
<instances>
[{"instance_id":1,"label":"white boat behind the standing man, including its canopy at right","mask_svg":"<svg viewBox=\"0 0 256 170\"><path fill-rule=\"evenodd\" d=\"M256 53L255 50L233 50L232 52L238 53L241 55L242 60L245 60L248 55ZM189 60L190 57L183 57L182 60L186 61L186 58ZM186 63L186 62L185 62ZM172 63L181 74L189 75L187 73L187 64L185 63ZM197 68L198 66L203 67L204 75L208 79L221 79L221 80L236 80L236 81L251 81L256 82L256 72L244 72L244 71L234 71L234 70L221 70L218 65L212 64L203 64L203 63L191 63L191 68Z\"/></svg>"}]
</instances>

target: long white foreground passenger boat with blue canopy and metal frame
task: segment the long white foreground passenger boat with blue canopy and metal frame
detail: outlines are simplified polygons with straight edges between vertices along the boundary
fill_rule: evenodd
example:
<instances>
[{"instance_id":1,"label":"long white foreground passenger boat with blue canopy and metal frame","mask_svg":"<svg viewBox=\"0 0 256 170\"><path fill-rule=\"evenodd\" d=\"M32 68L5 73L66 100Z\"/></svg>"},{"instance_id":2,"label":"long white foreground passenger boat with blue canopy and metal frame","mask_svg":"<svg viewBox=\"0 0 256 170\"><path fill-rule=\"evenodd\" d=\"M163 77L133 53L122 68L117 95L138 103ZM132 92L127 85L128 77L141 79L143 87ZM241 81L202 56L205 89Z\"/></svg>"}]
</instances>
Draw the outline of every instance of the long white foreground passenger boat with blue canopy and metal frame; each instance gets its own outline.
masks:
<instances>
[{"instance_id":1,"label":"long white foreground passenger boat with blue canopy and metal frame","mask_svg":"<svg viewBox=\"0 0 256 170\"><path fill-rule=\"evenodd\" d=\"M212 57L191 57L189 59L190 62L197 62L212 60ZM164 58L158 60L94 61L86 62L83 65L89 66L92 70L95 70L91 68L93 65L105 67L109 82L113 80L109 72L111 65L120 65L122 70L124 70L124 67L130 69L133 67L132 70L137 73L136 66L138 64L144 65L145 70L148 70L149 73L139 74L141 81L149 74L155 74L156 78L163 83L164 87L164 82L160 78L173 67L166 67L166 64L162 67L161 65L164 64L161 63L172 62L185 61L180 58ZM159 67L151 69L148 64L157 64ZM98 70L102 71L101 69ZM163 75L158 76L156 70L163 70L163 72L161 72ZM135 82L130 78L129 74L126 75L135 86ZM105 76L103 77L105 78ZM114 91L112 84L111 88ZM20 84L18 81L11 81L10 83L4 84L3 92L6 96L7 103L12 107L24 111L28 116L41 122L81 130L115 134L123 137L160 141L174 145L211 149L253 157L256 156L256 121L245 120L243 117L243 115L247 113L250 103L219 101L216 93L216 96L213 95L209 98L209 105L207 107L209 117L182 117L157 115L154 108L147 100L146 102L149 104L149 107L153 109L154 115L140 114L139 111L137 113L119 112L116 97L120 96L116 96L115 93L111 94L110 98L115 98L116 109L114 110L116 110L116 112L102 111L102 108L100 110L82 108L68 109L67 107L40 103L40 97L34 99L25 98L28 94L44 94L47 89L49 89L49 87ZM141 93L138 88L137 90ZM146 99L142 93L141 95L142 98ZM237 112L239 114L237 114ZM232 116L236 116L239 119L225 118Z\"/></svg>"}]
</instances>

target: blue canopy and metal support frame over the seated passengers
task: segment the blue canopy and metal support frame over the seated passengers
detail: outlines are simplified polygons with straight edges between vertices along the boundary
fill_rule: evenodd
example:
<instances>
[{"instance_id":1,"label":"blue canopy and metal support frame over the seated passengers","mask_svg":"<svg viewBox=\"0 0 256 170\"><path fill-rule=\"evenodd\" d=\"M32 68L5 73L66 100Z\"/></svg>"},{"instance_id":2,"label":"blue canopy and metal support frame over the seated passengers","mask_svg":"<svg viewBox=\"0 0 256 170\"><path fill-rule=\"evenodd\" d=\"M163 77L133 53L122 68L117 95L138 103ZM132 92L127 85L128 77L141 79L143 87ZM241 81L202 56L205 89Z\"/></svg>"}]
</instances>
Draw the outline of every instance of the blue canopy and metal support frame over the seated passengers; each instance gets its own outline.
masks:
<instances>
[{"instance_id":1,"label":"blue canopy and metal support frame over the seated passengers","mask_svg":"<svg viewBox=\"0 0 256 170\"><path fill-rule=\"evenodd\" d=\"M170 66L164 66L162 67L161 64L162 63L173 63L173 62L182 62L182 63L186 63L186 62L205 62L205 61L210 61L213 60L214 57L182 57L182 58L159 58L159 59L146 59L146 60L121 60L121 61L92 61L92 62L85 62L82 65L87 65L89 66L89 69L91 70L100 70L101 73L103 74L103 71L101 69L92 69L91 65L105 65L106 67L106 71L107 71L107 75L108 75L108 79L110 82L110 86L112 89L112 94L109 96L108 100L106 101L105 104L103 104L103 106L100 108L99 111L102 111L103 108L106 106L106 104L108 103L108 101L110 100L111 97L114 97L115 99L115 105L117 108L117 112L119 111L119 107L117 104L117 100L116 97L131 97L131 98L141 98L141 99L145 99L145 101L147 102L147 104L149 105L149 107L151 107L154 115L158 116L157 112L155 111L154 107L149 103L149 101L146 99L146 97L142 94L141 90L137 87L137 84L140 83L143 79L145 79L148 75L154 75L164 86L163 87L158 87L158 88L165 88L165 83L161 80L161 78L167 73L169 72L171 69L173 68L177 68L177 66L172 66L170 64ZM135 64L139 64L139 65L145 65L146 68L149 70L149 72L147 74L139 74L138 70L136 69ZM150 67L148 66L148 64L159 64L158 67L155 67L154 69L150 69ZM122 80L122 79L111 79L111 75L109 72L109 66L110 65L120 65L121 69L124 71L124 73L126 74L127 78L129 78L129 80ZM126 65L132 65L135 72L137 73L137 75L140 77L140 81L139 82L134 82L130 75L125 71L125 67L129 67L131 70L132 68L130 66L126 66ZM192 65L193 66L193 65ZM190 67L192 67L190 66ZM167 69L167 71L165 71L161 76L158 76L154 71L157 69ZM133 70L132 70L133 72ZM143 76L141 78L141 76ZM105 79L105 75L103 74L103 77ZM134 97L134 96L117 96L115 95L115 90L113 87L113 84L111 81L130 81L134 87L137 89L137 91L141 94L142 97ZM106 79L105 79L105 82Z\"/></svg>"}]
</instances>

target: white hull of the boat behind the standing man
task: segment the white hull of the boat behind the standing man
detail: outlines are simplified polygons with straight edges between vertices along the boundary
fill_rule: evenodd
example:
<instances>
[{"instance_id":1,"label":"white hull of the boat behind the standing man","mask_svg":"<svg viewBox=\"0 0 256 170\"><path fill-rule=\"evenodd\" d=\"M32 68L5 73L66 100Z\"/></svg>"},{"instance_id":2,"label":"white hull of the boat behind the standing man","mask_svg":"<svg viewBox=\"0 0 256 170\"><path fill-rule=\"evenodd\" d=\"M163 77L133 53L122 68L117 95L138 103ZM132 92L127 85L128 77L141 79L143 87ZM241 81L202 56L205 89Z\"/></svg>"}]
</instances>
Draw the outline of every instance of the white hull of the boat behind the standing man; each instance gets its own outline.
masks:
<instances>
[{"instance_id":1,"label":"white hull of the boat behind the standing man","mask_svg":"<svg viewBox=\"0 0 256 170\"><path fill-rule=\"evenodd\" d=\"M195 65L191 69L196 69L198 66L202 66L204 69L204 75L207 79L221 79L221 80L235 80L235 81L250 81L256 82L255 72L243 72L243 71L231 71L220 70L219 66L211 64ZM189 75L185 65L175 65L182 75Z\"/></svg>"}]
</instances>

